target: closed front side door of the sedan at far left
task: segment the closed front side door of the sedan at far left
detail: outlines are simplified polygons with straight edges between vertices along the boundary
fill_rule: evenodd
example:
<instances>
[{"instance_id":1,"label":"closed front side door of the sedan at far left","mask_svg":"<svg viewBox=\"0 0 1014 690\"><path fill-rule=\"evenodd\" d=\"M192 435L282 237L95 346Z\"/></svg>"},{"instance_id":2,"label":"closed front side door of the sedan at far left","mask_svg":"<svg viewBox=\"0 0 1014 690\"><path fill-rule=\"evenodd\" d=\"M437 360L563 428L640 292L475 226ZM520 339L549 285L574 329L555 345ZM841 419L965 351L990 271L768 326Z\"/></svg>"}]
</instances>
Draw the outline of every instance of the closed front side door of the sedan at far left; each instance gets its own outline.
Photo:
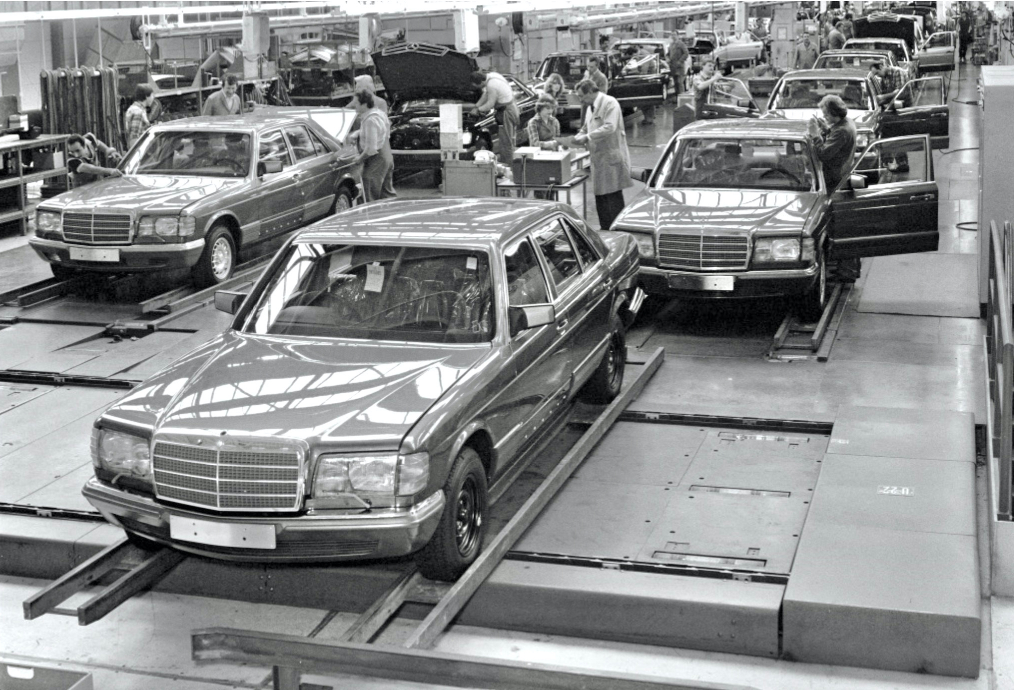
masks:
<instances>
[{"instance_id":1,"label":"closed front side door of the sedan at far left","mask_svg":"<svg viewBox=\"0 0 1014 690\"><path fill-rule=\"evenodd\" d=\"M292 154L281 129L262 132L258 143L258 162L278 161L281 172L259 176L255 194L260 201L259 238L291 230L303 219L303 193L296 179Z\"/></svg>"}]
</instances>

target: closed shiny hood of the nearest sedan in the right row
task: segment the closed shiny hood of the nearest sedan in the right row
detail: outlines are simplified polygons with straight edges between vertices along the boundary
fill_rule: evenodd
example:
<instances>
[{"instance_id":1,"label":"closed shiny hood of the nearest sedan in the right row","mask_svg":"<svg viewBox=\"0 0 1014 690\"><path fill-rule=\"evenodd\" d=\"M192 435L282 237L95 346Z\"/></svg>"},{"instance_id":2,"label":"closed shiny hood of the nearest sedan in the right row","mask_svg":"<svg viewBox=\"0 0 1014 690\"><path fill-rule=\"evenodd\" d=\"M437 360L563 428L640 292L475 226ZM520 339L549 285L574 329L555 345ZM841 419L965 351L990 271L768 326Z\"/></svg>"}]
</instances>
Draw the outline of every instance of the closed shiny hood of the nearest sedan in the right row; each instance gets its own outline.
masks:
<instances>
[{"instance_id":1,"label":"closed shiny hood of the nearest sedan in the right row","mask_svg":"<svg viewBox=\"0 0 1014 690\"><path fill-rule=\"evenodd\" d=\"M620 214L614 227L730 234L799 232L818 199L814 191L644 189Z\"/></svg>"}]
</instances>

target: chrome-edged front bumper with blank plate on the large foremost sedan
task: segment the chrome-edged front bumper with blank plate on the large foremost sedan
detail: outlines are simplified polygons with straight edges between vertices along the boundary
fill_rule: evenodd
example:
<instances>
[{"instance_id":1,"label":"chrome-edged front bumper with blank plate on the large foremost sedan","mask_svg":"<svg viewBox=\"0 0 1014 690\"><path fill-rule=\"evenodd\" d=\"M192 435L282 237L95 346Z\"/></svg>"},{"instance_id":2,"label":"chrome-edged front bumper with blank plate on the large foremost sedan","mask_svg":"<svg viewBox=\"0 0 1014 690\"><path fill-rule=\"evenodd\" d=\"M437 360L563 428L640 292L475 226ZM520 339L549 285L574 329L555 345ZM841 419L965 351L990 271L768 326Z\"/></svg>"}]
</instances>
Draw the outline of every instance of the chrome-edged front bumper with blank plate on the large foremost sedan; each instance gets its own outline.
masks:
<instances>
[{"instance_id":1,"label":"chrome-edged front bumper with blank plate on the large foremost sedan","mask_svg":"<svg viewBox=\"0 0 1014 690\"><path fill-rule=\"evenodd\" d=\"M437 491L408 511L375 511L367 514L262 516L257 518L213 515L188 511L182 506L117 489L92 477L81 491L102 517L128 532L169 544L173 548L212 558L237 561L340 561L401 556L422 548L433 536L444 508ZM213 546L172 539L169 516L223 525L275 527L274 549Z\"/></svg>"}]
</instances>

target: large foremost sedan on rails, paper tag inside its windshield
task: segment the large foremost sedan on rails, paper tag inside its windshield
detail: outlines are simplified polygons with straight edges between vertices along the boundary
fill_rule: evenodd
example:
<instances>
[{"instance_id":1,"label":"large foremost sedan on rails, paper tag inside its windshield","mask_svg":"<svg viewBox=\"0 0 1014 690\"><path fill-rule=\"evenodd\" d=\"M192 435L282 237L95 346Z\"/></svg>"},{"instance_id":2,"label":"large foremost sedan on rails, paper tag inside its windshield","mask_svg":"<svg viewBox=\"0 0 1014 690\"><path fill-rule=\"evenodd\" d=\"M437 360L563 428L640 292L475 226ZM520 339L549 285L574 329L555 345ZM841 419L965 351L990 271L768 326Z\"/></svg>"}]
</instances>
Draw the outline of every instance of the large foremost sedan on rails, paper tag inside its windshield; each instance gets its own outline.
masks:
<instances>
[{"instance_id":1,"label":"large foremost sedan on rails, paper tag inside its windshield","mask_svg":"<svg viewBox=\"0 0 1014 690\"><path fill-rule=\"evenodd\" d=\"M575 395L619 392L638 251L569 207L368 204L300 232L231 327L110 407L85 497L232 560L418 552L453 580L488 495Z\"/></svg>"}]
</instances>

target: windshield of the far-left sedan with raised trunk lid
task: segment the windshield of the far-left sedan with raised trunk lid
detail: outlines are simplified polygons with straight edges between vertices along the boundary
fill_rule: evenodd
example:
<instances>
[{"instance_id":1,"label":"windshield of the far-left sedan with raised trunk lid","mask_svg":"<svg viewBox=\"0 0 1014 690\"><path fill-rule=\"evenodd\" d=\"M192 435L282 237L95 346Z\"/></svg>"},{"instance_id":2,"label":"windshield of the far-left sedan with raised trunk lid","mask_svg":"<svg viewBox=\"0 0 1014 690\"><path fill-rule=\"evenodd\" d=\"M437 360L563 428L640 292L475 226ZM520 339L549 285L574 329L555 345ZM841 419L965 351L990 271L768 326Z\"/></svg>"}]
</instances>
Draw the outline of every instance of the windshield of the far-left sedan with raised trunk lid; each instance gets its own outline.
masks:
<instances>
[{"instance_id":1,"label":"windshield of the far-left sedan with raised trunk lid","mask_svg":"<svg viewBox=\"0 0 1014 690\"><path fill-rule=\"evenodd\" d=\"M240 132L149 133L123 164L128 175L170 174L245 177L250 136Z\"/></svg>"}]
</instances>

